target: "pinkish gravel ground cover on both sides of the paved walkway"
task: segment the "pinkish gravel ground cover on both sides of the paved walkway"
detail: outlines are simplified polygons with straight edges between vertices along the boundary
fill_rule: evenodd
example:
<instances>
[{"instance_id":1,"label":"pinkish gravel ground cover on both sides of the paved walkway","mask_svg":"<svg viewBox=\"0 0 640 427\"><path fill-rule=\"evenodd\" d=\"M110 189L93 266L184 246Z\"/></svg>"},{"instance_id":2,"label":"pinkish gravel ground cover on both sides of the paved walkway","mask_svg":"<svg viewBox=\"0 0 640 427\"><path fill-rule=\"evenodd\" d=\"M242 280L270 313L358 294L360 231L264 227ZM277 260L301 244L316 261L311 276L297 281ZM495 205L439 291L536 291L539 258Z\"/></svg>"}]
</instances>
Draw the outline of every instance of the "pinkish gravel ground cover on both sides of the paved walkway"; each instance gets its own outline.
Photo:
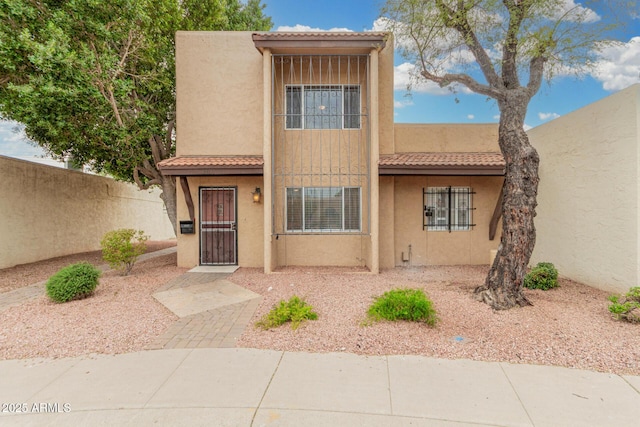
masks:
<instances>
[{"instance_id":1,"label":"pinkish gravel ground cover on both sides of the paved walkway","mask_svg":"<svg viewBox=\"0 0 640 427\"><path fill-rule=\"evenodd\" d=\"M92 262L87 256L0 270L0 288L7 288L8 279L13 288L45 280L72 262ZM99 256L94 261L102 264ZM18 279L21 269L29 274ZM265 275L260 269L241 268L229 279L262 295L263 300L237 346L415 354L640 375L640 326L611 318L608 292L561 279L557 289L526 290L534 304L531 307L493 311L471 297L487 269L398 268L370 275L358 269L287 268ZM113 271L103 274L90 298L55 304L42 296L9 308L0 313L0 359L142 350L177 319L151 295L185 272L176 267L175 254L165 255L136 264L127 277ZM366 321L366 311L376 296L402 287L427 293L440 318L435 328ZM268 331L253 326L278 301L293 295L306 298L319 319L296 331L288 325Z\"/></svg>"}]
</instances>

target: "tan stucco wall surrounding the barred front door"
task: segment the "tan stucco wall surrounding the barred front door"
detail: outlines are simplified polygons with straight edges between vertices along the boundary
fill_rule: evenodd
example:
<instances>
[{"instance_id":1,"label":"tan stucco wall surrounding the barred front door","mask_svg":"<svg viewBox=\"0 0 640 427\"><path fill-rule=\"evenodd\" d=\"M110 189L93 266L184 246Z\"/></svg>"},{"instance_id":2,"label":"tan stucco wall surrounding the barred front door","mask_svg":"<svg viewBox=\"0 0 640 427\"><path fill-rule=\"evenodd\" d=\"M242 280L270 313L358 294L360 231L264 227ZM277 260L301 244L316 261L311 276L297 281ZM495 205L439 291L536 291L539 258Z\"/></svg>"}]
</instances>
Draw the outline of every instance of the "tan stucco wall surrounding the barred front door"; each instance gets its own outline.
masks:
<instances>
[{"instance_id":1,"label":"tan stucco wall surrounding the barred front door","mask_svg":"<svg viewBox=\"0 0 640 427\"><path fill-rule=\"evenodd\" d=\"M195 267L200 264L200 187L237 187L238 265L262 267L264 199L253 202L252 192L262 190L262 177L189 177L189 189L195 207L195 234L178 233L178 266ZM182 188L178 185L178 220L188 220L189 213Z\"/></svg>"}]
</instances>

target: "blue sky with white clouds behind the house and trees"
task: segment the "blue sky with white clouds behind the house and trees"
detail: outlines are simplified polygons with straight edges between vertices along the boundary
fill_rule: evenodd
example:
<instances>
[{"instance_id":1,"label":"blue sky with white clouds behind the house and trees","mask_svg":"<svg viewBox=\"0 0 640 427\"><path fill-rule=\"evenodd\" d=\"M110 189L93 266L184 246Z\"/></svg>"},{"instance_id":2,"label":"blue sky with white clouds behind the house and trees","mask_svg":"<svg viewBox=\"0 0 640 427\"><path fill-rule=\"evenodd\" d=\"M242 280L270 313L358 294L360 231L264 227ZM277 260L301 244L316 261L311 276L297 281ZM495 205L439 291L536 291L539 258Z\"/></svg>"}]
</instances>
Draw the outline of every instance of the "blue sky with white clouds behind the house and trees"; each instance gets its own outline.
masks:
<instances>
[{"instance_id":1,"label":"blue sky with white clouds behind the house and trees","mask_svg":"<svg viewBox=\"0 0 640 427\"><path fill-rule=\"evenodd\" d=\"M564 0L569 5L578 0ZM349 30L375 28L379 18L378 0L263 0L265 12L272 17L273 30ZM596 3L597 4L597 3ZM595 13L601 11L595 10ZM607 16L600 15L601 19ZM535 127L602 99L631 84L640 83L640 17L637 11L625 17L626 27L615 36L623 42L610 48L596 70L582 79L558 77L544 83L529 104L527 127ZM407 61L395 56L395 120L400 123L487 123L497 122L498 108L493 101L474 94L442 94L424 88L407 96ZM24 141L13 131L15 123L0 122L0 154L30 158L41 156L38 147Z\"/></svg>"}]
</instances>

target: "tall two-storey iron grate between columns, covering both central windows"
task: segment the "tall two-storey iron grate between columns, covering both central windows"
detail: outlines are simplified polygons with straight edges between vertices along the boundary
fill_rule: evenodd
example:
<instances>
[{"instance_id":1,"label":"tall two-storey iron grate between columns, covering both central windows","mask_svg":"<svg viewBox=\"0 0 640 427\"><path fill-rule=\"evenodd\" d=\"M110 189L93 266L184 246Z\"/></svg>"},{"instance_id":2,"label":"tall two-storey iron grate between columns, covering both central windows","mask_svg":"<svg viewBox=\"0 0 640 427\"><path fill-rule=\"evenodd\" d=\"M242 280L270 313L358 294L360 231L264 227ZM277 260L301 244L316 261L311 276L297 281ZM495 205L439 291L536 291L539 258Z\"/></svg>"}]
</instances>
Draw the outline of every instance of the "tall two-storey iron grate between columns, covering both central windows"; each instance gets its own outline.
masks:
<instances>
[{"instance_id":1,"label":"tall two-storey iron grate between columns, covering both central windows","mask_svg":"<svg viewBox=\"0 0 640 427\"><path fill-rule=\"evenodd\" d=\"M271 70L273 232L368 234L368 55L274 54Z\"/></svg>"}]
</instances>

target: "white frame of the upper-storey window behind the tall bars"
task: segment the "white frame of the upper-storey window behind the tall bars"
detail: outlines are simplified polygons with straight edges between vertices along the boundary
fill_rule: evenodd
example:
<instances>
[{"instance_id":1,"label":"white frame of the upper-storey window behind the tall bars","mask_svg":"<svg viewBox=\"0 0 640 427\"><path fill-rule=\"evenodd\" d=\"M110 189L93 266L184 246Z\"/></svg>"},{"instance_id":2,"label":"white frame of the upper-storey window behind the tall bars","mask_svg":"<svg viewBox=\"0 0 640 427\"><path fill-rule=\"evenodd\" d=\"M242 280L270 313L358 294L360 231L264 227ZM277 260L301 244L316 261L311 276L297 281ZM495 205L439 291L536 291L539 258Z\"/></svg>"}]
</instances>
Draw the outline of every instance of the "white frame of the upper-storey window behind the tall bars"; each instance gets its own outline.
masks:
<instances>
[{"instance_id":1,"label":"white frame of the upper-storey window behind the tall bars","mask_svg":"<svg viewBox=\"0 0 640 427\"><path fill-rule=\"evenodd\" d=\"M290 101L290 91L293 93L292 88L298 88L298 93L300 94L299 104L300 111L298 113L289 111ZM305 114L306 109L306 93L307 91L318 91L322 90L322 88L326 88L326 90L337 90L340 88L340 113L335 114L336 117L340 120L340 126L338 127L309 127L307 123L307 119L317 119L321 118L321 114ZM347 93L351 90L357 89L357 105L352 106L349 110L347 110L347 105L350 105L351 97L349 97L349 102L347 102ZM354 112L354 110L357 110ZM331 114L329 114L331 116ZM362 87L360 84L287 84L284 88L284 128L285 130L358 130L362 129ZM299 126L291 126L291 122L299 121ZM357 122L357 123L355 123ZM346 124L350 124L351 126L346 127ZM353 124L357 124L357 126L353 126Z\"/></svg>"}]
</instances>

